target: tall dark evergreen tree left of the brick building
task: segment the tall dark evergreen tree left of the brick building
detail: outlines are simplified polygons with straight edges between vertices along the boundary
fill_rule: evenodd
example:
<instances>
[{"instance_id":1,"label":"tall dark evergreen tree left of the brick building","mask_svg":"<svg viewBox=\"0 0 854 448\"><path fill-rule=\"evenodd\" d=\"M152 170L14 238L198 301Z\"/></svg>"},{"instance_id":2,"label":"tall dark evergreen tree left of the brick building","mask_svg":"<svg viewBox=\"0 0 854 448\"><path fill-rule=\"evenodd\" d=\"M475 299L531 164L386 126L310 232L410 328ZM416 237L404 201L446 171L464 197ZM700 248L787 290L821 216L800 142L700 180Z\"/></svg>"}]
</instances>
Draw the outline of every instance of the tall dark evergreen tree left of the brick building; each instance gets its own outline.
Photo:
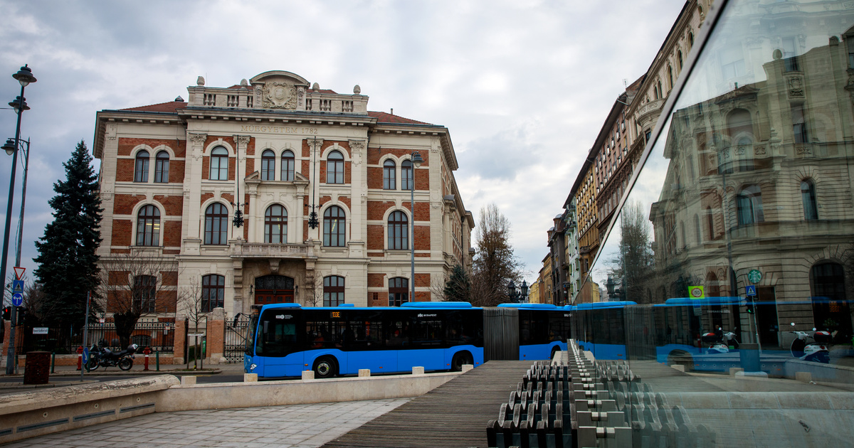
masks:
<instances>
[{"instance_id":1,"label":"tall dark evergreen tree left of the brick building","mask_svg":"<svg viewBox=\"0 0 854 448\"><path fill-rule=\"evenodd\" d=\"M38 263L35 276L42 285L45 300L51 303L43 313L44 324L69 329L83 325L86 293L100 284L97 248L101 244L101 198L92 157L81 140L63 164L66 179L54 183L56 196L50 199L54 209L52 223L44 227L44 236L36 241ZM95 305L92 300L92 305ZM91 307L94 312L95 306Z\"/></svg>"}]
</instances>

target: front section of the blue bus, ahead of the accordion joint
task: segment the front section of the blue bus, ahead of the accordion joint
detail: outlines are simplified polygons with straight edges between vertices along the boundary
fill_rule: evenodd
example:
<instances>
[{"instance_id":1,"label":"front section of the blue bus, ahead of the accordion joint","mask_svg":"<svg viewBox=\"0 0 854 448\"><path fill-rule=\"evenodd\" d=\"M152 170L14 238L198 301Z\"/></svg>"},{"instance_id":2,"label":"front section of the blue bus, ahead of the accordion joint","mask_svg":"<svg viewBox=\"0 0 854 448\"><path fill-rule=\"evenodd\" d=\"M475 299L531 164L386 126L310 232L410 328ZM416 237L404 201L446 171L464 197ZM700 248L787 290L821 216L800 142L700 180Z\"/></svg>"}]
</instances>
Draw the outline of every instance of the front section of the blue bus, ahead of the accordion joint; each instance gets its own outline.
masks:
<instances>
[{"instance_id":1,"label":"front section of the blue bus, ahead of the accordion joint","mask_svg":"<svg viewBox=\"0 0 854 448\"><path fill-rule=\"evenodd\" d=\"M263 305L249 324L244 371L263 378L315 378L483 364L483 309L467 302L401 307Z\"/></svg>"}]
</instances>

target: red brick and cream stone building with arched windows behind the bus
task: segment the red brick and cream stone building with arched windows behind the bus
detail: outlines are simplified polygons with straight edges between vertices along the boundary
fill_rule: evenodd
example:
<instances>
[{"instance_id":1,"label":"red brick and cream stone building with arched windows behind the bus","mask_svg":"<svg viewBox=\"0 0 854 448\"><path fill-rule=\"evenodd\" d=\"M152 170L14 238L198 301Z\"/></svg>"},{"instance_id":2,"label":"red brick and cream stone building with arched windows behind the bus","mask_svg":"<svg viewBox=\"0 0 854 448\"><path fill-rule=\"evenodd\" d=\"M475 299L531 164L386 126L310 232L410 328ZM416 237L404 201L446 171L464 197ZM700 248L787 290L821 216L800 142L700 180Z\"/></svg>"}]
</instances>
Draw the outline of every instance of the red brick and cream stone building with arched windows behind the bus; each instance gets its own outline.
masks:
<instances>
[{"instance_id":1,"label":"red brick and cream stone building with arched windows behind the bus","mask_svg":"<svg viewBox=\"0 0 854 448\"><path fill-rule=\"evenodd\" d=\"M446 127L370 112L358 85L338 94L289 72L223 88L200 77L188 94L96 119L103 267L163 266L152 316L180 311L194 289L228 316L280 301L436 300L431 285L471 265Z\"/></svg>"}]
</instances>

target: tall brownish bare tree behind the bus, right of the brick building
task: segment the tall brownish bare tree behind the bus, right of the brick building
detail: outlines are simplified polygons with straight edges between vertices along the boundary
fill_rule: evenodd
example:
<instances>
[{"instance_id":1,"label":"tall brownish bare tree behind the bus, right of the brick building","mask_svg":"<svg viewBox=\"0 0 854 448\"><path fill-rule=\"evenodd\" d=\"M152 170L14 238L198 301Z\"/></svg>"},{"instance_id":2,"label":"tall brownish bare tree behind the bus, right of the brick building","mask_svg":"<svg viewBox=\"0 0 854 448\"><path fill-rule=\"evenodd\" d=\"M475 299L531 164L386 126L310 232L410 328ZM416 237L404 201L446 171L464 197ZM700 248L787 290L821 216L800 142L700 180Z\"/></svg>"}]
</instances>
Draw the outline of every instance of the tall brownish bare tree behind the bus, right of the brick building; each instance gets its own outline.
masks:
<instances>
[{"instance_id":1,"label":"tall brownish bare tree behind the bus, right of the brick building","mask_svg":"<svg viewBox=\"0 0 854 448\"><path fill-rule=\"evenodd\" d=\"M471 304L494 306L508 300L507 284L519 282L522 264L510 244L510 221L494 203L480 210L477 252L471 278Z\"/></svg>"}]
</instances>

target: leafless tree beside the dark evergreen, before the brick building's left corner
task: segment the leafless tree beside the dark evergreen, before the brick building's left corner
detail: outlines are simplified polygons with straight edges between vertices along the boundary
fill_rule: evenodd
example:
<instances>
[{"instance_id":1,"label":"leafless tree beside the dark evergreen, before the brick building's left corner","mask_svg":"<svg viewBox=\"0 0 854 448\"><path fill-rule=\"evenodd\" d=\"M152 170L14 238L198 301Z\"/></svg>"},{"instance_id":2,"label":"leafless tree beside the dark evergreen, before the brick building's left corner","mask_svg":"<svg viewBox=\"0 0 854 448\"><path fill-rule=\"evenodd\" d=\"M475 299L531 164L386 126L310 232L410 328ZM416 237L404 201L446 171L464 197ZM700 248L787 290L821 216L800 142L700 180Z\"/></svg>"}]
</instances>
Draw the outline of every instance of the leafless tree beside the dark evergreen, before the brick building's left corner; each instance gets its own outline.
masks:
<instances>
[{"instance_id":1,"label":"leafless tree beside the dark evergreen, before the brick building's left corner","mask_svg":"<svg viewBox=\"0 0 854 448\"><path fill-rule=\"evenodd\" d=\"M97 302L113 313L120 346L131 343L137 321L143 315L165 312L177 305L173 288L178 285L178 262L130 248L101 258L102 281Z\"/></svg>"}]
</instances>

